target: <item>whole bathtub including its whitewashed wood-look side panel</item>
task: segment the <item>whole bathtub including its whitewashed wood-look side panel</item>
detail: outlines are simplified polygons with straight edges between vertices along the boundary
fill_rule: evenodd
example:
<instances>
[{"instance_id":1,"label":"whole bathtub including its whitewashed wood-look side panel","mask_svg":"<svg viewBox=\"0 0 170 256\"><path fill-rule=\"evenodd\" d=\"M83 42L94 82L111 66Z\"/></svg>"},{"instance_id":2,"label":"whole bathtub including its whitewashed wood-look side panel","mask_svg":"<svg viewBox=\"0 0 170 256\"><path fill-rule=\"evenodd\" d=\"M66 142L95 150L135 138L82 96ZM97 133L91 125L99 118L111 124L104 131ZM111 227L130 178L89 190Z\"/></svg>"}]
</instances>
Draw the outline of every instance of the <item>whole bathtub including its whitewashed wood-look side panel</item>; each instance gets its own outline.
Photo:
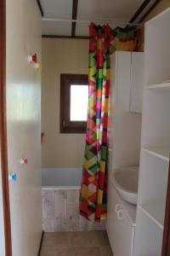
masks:
<instances>
[{"instance_id":1,"label":"whole bathtub including its whitewashed wood-look side panel","mask_svg":"<svg viewBox=\"0 0 170 256\"><path fill-rule=\"evenodd\" d=\"M45 232L105 230L105 221L79 215L81 168L42 168L42 228Z\"/></svg>"}]
</instances>

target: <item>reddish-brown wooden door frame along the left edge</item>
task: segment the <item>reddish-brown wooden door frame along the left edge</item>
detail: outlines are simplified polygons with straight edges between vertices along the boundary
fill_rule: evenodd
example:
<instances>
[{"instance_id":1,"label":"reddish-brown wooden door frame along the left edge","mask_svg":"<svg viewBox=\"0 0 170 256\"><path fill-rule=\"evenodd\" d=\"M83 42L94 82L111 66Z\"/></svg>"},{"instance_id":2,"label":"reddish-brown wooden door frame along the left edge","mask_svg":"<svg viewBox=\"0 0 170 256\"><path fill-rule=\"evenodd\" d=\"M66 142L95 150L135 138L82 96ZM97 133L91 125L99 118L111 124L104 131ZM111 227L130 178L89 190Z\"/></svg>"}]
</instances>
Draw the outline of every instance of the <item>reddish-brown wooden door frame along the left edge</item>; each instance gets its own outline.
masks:
<instances>
[{"instance_id":1,"label":"reddish-brown wooden door frame along the left edge","mask_svg":"<svg viewBox=\"0 0 170 256\"><path fill-rule=\"evenodd\" d=\"M0 1L0 38L0 157L3 189L3 219L5 254L6 256L12 256L6 118L6 0Z\"/></svg>"}]
</instances>

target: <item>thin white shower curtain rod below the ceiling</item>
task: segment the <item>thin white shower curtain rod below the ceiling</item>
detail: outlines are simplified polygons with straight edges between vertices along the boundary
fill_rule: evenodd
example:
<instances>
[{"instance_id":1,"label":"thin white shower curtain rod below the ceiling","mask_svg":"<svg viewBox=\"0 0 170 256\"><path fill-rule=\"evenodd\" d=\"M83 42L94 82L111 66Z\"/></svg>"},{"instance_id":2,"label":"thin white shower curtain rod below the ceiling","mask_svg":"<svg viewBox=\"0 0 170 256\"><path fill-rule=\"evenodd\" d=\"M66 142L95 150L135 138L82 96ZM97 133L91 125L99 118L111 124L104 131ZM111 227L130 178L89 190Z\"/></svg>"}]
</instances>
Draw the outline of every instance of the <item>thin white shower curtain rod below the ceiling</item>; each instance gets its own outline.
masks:
<instances>
[{"instance_id":1,"label":"thin white shower curtain rod below the ceiling","mask_svg":"<svg viewBox=\"0 0 170 256\"><path fill-rule=\"evenodd\" d=\"M57 22L77 22L77 23L114 23L114 24L122 24L129 26L142 26L142 23L132 23L122 20L68 20L68 19L51 19L51 18L42 18L43 21L57 21Z\"/></svg>"}]
</instances>

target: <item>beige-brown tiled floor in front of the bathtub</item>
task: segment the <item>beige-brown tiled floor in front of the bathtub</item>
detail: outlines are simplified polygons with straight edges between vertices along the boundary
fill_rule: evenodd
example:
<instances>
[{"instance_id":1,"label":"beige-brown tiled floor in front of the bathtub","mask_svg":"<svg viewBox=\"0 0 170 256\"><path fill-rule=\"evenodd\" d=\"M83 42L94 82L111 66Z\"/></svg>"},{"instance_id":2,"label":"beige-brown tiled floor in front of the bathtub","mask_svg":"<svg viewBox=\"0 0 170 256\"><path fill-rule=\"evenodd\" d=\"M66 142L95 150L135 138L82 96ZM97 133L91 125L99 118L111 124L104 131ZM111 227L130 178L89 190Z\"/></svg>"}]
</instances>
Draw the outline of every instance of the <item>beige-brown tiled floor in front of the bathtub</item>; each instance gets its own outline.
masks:
<instances>
[{"instance_id":1,"label":"beige-brown tiled floor in front of the bathtub","mask_svg":"<svg viewBox=\"0 0 170 256\"><path fill-rule=\"evenodd\" d=\"M41 256L113 256L105 231L45 233Z\"/></svg>"}]
</instances>

